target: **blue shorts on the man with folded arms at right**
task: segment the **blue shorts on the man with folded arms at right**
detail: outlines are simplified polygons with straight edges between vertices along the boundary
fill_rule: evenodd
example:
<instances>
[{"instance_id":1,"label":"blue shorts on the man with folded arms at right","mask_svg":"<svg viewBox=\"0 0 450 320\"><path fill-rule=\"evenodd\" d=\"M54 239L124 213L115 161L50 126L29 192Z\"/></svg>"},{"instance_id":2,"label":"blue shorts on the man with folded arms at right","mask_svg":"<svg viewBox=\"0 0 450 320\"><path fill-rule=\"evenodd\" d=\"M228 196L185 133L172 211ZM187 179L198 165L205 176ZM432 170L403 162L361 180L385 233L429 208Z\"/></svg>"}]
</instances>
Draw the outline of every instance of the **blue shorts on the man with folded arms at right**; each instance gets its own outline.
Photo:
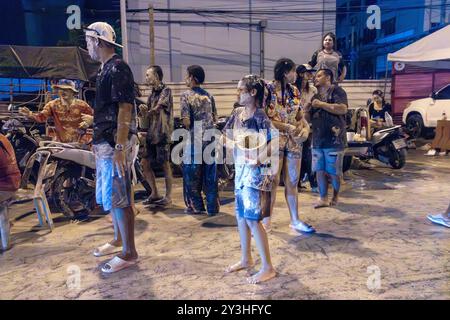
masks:
<instances>
[{"instance_id":1,"label":"blue shorts on the man with folded arms at right","mask_svg":"<svg viewBox=\"0 0 450 320\"><path fill-rule=\"evenodd\" d=\"M312 149L312 171L325 171L334 176L342 175L344 150L342 149Z\"/></svg>"}]
</instances>

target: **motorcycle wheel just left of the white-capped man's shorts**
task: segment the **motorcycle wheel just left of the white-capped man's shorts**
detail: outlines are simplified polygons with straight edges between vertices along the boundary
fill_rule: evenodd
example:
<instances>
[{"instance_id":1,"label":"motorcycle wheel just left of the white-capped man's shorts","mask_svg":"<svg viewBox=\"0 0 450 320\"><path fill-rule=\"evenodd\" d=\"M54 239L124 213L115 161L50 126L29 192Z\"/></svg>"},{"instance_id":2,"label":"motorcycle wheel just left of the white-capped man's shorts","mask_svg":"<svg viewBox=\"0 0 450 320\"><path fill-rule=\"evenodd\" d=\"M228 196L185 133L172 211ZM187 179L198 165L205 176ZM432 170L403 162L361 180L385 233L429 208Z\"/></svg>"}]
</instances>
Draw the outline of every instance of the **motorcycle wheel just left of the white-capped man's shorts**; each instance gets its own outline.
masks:
<instances>
[{"instance_id":1,"label":"motorcycle wheel just left of the white-capped man's shorts","mask_svg":"<svg viewBox=\"0 0 450 320\"><path fill-rule=\"evenodd\" d=\"M55 174L52 184L52 200L56 209L68 218L90 215L95 208L95 189L89 190L87 197L79 199L82 190L78 190L72 183L77 183L75 173L64 170ZM80 182L78 182L80 183ZM72 184L71 186L66 186ZM83 190L85 191L85 190Z\"/></svg>"}]
</instances>

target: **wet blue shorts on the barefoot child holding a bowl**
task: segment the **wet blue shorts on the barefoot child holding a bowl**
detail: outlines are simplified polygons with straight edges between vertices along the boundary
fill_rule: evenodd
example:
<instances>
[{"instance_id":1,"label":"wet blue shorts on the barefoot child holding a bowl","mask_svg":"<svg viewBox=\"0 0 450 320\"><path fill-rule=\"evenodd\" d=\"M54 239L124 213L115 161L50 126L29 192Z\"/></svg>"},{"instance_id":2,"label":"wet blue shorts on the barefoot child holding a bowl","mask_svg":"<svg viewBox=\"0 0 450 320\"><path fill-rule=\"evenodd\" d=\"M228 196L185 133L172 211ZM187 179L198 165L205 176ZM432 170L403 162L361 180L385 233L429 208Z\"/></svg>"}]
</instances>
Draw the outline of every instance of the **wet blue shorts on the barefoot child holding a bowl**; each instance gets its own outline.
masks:
<instances>
[{"instance_id":1,"label":"wet blue shorts on the barefoot child holding a bowl","mask_svg":"<svg viewBox=\"0 0 450 320\"><path fill-rule=\"evenodd\" d=\"M244 219L261 221L263 219L261 208L261 190L245 187L234 191L236 203L236 216Z\"/></svg>"}]
</instances>

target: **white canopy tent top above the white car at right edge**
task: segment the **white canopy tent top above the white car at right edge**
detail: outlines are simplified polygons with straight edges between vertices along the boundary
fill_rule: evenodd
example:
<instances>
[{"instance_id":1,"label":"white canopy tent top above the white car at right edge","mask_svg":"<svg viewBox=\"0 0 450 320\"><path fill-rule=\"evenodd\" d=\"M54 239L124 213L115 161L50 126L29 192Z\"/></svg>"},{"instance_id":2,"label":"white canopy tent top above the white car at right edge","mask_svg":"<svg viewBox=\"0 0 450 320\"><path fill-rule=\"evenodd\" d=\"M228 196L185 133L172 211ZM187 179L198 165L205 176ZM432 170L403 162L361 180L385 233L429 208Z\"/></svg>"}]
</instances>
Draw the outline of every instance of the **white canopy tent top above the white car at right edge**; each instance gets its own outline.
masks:
<instances>
[{"instance_id":1,"label":"white canopy tent top above the white car at right edge","mask_svg":"<svg viewBox=\"0 0 450 320\"><path fill-rule=\"evenodd\" d=\"M450 69L450 25L388 54L388 60L420 67Z\"/></svg>"}]
</instances>

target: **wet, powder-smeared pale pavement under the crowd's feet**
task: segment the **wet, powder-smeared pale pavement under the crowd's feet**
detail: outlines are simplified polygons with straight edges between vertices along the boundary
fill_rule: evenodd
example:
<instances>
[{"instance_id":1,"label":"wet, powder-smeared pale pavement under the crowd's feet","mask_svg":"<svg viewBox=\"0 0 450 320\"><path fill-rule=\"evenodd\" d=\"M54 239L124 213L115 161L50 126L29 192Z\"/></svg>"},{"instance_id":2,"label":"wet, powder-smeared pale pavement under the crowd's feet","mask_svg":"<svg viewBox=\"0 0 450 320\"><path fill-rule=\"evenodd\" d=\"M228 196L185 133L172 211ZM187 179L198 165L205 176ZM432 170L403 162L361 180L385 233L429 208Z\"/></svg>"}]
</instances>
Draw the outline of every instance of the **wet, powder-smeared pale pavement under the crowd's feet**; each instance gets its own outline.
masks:
<instances>
[{"instance_id":1,"label":"wet, powder-smeared pale pavement under the crowd's feet","mask_svg":"<svg viewBox=\"0 0 450 320\"><path fill-rule=\"evenodd\" d=\"M345 177L341 203L314 210L300 193L300 215L317 233L289 229L279 188L269 235L278 277L260 285L245 271L224 275L239 259L231 191L216 217L183 213L182 181L174 207L138 205L137 266L104 276L96 246L109 241L107 218L73 223L55 215L52 233L30 204L12 208L13 248L0 255L1 299L449 299L450 229L427 221L450 201L450 156L410 150L404 169L373 162ZM158 179L162 185L163 180ZM257 251L253 243L254 257ZM259 260L257 259L257 262Z\"/></svg>"}]
</instances>

